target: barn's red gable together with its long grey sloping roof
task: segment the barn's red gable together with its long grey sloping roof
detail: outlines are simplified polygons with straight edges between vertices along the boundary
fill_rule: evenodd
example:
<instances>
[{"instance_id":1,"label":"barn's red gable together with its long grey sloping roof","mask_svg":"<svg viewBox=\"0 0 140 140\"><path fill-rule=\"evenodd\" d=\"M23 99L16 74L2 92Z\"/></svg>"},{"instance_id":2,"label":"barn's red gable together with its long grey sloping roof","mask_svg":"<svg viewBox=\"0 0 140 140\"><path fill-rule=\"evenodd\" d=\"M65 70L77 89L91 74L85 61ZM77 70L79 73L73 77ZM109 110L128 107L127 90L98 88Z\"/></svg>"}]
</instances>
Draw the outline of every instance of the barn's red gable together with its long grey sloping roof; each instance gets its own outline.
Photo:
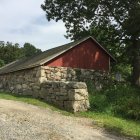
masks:
<instances>
[{"instance_id":1,"label":"barn's red gable together with its long grey sloping roof","mask_svg":"<svg viewBox=\"0 0 140 140\"><path fill-rule=\"evenodd\" d=\"M0 74L37 66L71 67L93 70L110 70L115 59L92 37L65 44L30 58L12 62L0 69Z\"/></svg>"}]
</instances>

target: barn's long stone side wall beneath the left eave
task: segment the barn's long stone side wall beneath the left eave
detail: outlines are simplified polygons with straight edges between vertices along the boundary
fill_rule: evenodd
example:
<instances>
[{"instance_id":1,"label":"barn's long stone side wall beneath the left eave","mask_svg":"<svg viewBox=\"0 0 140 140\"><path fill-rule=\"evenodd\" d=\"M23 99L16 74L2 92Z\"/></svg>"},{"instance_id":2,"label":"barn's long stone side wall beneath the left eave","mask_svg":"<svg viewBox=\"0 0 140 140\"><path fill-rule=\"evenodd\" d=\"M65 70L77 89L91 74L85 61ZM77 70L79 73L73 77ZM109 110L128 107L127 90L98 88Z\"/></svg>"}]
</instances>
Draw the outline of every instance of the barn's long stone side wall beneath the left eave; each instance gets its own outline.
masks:
<instances>
[{"instance_id":1,"label":"barn's long stone side wall beneath the left eave","mask_svg":"<svg viewBox=\"0 0 140 140\"><path fill-rule=\"evenodd\" d=\"M0 90L31 95L41 83L41 67L0 75Z\"/></svg>"}]
</instances>

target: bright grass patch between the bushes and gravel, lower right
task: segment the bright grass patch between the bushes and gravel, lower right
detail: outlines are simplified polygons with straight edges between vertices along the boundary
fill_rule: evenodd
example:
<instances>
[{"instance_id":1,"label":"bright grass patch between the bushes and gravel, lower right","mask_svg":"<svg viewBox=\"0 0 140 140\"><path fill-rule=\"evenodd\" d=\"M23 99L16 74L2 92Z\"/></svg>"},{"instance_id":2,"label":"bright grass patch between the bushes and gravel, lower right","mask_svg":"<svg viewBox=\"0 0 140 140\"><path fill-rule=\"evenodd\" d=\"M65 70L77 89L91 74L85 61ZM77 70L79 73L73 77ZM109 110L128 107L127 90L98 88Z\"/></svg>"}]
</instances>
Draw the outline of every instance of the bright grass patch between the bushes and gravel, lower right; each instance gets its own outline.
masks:
<instances>
[{"instance_id":1,"label":"bright grass patch between the bushes and gravel, lower right","mask_svg":"<svg viewBox=\"0 0 140 140\"><path fill-rule=\"evenodd\" d=\"M140 122L127 120L105 113L93 111L79 113L80 116L92 118L93 125L105 128L105 130L116 135L124 135L140 139Z\"/></svg>"}]
</instances>

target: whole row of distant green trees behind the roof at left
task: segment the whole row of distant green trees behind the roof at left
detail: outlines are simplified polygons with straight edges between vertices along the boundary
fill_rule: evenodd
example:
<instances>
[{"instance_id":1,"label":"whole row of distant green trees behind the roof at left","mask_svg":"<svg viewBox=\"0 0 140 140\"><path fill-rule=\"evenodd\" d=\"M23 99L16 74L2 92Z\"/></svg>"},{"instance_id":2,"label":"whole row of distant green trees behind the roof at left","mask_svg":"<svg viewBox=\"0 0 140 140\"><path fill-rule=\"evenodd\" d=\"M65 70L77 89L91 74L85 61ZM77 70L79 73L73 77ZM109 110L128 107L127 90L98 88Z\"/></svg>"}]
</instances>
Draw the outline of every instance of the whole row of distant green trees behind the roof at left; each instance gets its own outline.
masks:
<instances>
[{"instance_id":1,"label":"whole row of distant green trees behind the roof at left","mask_svg":"<svg viewBox=\"0 0 140 140\"><path fill-rule=\"evenodd\" d=\"M10 42L0 42L0 66L8 64L22 57L29 57L41 52L40 49L35 48L29 43L25 43L24 47L19 44L12 44Z\"/></svg>"}]
</instances>

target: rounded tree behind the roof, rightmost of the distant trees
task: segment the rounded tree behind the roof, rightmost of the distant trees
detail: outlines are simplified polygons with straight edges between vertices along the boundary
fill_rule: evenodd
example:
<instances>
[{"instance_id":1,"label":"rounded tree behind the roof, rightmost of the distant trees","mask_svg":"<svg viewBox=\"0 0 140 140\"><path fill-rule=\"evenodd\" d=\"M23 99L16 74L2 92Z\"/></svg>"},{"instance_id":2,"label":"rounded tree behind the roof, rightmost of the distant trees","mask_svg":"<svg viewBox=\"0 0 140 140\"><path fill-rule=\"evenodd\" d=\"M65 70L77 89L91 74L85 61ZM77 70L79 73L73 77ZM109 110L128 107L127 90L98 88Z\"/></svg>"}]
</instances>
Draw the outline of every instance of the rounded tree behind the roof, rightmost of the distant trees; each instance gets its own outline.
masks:
<instances>
[{"instance_id":1,"label":"rounded tree behind the roof, rightmost of the distant trees","mask_svg":"<svg viewBox=\"0 0 140 140\"><path fill-rule=\"evenodd\" d=\"M30 43L25 43L24 44L24 47L23 47L23 53L26 57L30 57L30 56L33 56L37 53L40 53L41 50L40 49L37 49L35 46L33 46L32 44Z\"/></svg>"}]
</instances>

